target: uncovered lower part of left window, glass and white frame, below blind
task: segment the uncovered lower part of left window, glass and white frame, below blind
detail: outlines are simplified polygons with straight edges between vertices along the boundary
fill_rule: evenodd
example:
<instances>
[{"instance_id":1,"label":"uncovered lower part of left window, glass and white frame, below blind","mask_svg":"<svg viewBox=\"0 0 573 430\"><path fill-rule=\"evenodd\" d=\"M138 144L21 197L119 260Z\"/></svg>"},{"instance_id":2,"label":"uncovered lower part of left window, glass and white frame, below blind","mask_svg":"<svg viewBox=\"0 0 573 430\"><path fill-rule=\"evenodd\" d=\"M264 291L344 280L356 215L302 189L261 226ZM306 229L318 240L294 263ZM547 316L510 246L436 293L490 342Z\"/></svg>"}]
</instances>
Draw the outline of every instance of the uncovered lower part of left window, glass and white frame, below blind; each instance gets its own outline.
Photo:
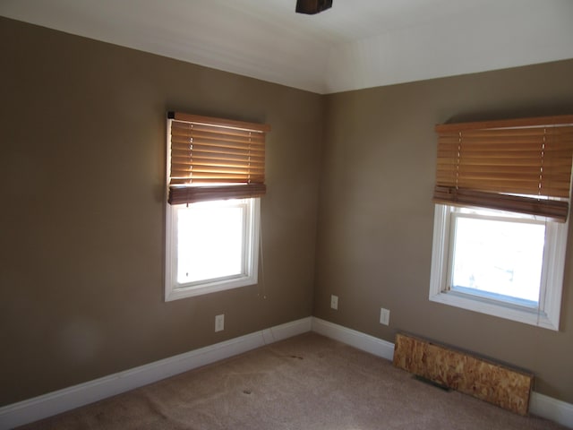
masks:
<instances>
[{"instance_id":1,"label":"uncovered lower part of left window, glass and white frame, below blind","mask_svg":"<svg viewBox=\"0 0 573 430\"><path fill-rule=\"evenodd\" d=\"M167 300L257 283L258 198L169 208Z\"/></svg>"}]
</instances>

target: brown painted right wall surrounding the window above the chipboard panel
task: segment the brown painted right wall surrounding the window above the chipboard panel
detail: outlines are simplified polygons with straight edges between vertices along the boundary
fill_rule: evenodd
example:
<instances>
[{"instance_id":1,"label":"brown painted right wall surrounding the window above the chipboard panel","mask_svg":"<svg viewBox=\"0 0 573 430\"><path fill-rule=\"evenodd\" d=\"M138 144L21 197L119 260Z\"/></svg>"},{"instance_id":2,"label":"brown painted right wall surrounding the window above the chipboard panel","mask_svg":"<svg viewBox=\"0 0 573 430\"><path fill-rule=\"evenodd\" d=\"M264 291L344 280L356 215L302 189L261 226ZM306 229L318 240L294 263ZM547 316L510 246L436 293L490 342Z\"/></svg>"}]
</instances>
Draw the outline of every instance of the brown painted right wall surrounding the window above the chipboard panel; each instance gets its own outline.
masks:
<instances>
[{"instance_id":1,"label":"brown painted right wall surrounding the window above the chipboard panel","mask_svg":"<svg viewBox=\"0 0 573 430\"><path fill-rule=\"evenodd\" d=\"M559 332L428 300L433 126L571 114L572 76L569 60L328 96L313 314L384 340L409 331L528 368L535 391L573 402L572 234ZM381 306L389 327L379 323Z\"/></svg>"}]
</instances>

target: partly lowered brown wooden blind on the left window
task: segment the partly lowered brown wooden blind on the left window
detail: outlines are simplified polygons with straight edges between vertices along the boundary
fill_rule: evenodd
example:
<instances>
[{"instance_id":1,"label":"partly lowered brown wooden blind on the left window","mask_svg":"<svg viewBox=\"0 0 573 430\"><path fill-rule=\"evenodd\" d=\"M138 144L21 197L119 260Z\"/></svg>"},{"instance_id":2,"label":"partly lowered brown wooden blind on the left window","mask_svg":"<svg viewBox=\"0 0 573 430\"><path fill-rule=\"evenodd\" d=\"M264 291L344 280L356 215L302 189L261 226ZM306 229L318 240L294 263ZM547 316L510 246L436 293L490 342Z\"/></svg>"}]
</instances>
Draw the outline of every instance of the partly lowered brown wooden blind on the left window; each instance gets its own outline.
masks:
<instances>
[{"instance_id":1,"label":"partly lowered brown wooden blind on the left window","mask_svg":"<svg viewBox=\"0 0 573 430\"><path fill-rule=\"evenodd\" d=\"M171 204L260 197L269 125L167 114Z\"/></svg>"}]
</instances>

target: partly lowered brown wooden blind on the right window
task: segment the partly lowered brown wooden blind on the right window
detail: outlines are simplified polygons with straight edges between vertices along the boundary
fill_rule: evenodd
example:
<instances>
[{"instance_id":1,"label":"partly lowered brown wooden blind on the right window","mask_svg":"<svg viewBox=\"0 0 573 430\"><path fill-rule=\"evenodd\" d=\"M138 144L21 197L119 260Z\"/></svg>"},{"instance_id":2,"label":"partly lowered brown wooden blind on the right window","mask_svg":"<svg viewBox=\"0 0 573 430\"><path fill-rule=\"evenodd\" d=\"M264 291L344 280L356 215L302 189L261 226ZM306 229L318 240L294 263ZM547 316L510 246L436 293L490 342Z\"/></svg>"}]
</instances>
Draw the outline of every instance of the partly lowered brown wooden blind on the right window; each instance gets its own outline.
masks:
<instances>
[{"instance_id":1,"label":"partly lowered brown wooden blind on the right window","mask_svg":"<svg viewBox=\"0 0 573 430\"><path fill-rule=\"evenodd\" d=\"M573 116L436 125L434 202L569 214Z\"/></svg>"}]
</instances>

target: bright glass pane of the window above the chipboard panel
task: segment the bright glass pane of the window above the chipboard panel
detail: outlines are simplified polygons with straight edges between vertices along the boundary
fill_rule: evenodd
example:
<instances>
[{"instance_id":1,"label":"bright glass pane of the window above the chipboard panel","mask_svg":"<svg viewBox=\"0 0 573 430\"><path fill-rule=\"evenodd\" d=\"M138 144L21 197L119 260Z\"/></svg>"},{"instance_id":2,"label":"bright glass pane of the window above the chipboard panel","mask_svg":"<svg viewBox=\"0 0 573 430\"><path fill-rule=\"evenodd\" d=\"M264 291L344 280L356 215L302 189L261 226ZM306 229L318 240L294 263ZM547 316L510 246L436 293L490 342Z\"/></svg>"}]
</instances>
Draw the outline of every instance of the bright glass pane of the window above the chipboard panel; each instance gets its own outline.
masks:
<instances>
[{"instance_id":1,"label":"bright glass pane of the window above the chipboard panel","mask_svg":"<svg viewBox=\"0 0 573 430\"><path fill-rule=\"evenodd\" d=\"M455 219L452 289L537 305L544 224L463 216Z\"/></svg>"}]
</instances>

